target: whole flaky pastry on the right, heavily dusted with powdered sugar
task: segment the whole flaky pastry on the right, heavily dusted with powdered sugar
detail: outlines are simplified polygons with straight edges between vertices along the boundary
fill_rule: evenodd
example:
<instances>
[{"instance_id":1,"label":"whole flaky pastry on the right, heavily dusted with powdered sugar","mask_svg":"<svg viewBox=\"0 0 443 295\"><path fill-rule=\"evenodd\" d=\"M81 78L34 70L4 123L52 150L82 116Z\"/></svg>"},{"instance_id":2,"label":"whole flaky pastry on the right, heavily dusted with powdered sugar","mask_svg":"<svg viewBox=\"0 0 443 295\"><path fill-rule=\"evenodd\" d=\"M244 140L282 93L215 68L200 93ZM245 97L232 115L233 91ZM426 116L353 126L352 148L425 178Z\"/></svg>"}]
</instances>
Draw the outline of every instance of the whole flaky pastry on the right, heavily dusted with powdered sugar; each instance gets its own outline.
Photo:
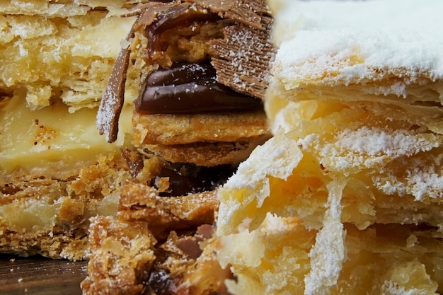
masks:
<instances>
[{"instance_id":1,"label":"whole flaky pastry on the right, heavily dusted with powdered sugar","mask_svg":"<svg viewBox=\"0 0 443 295\"><path fill-rule=\"evenodd\" d=\"M277 2L274 137L218 194L228 290L441 293L442 3Z\"/></svg>"}]
</instances>

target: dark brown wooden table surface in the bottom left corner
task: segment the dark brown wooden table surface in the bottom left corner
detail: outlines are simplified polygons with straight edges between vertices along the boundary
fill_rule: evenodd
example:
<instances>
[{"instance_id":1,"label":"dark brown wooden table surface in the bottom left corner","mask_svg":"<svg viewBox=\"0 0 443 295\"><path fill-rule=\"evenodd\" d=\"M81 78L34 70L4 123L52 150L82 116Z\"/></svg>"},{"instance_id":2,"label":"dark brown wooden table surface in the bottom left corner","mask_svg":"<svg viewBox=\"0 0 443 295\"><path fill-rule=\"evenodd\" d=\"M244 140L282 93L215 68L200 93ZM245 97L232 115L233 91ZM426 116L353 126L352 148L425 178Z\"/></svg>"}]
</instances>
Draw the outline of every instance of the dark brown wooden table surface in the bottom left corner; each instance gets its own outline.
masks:
<instances>
[{"instance_id":1,"label":"dark brown wooden table surface in the bottom left corner","mask_svg":"<svg viewBox=\"0 0 443 295\"><path fill-rule=\"evenodd\" d=\"M80 295L86 261L0 255L0 294Z\"/></svg>"}]
</instances>

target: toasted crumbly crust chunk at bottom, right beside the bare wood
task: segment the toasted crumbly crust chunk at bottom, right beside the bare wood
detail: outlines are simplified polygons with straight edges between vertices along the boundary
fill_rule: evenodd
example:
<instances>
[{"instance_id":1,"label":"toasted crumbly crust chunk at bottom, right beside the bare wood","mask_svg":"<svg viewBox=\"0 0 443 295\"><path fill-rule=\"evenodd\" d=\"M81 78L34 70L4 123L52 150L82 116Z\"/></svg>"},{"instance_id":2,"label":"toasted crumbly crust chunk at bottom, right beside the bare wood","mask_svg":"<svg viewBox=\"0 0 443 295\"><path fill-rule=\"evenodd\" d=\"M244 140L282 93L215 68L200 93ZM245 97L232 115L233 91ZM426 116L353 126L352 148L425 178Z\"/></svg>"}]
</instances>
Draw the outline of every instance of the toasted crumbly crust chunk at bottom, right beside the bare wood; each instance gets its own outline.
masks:
<instances>
[{"instance_id":1,"label":"toasted crumbly crust chunk at bottom, right beside the bare wood","mask_svg":"<svg viewBox=\"0 0 443 295\"><path fill-rule=\"evenodd\" d=\"M155 238L144 222L125 222L115 216L96 216L89 229L91 250L84 294L141 294L154 262Z\"/></svg>"}]
</instances>

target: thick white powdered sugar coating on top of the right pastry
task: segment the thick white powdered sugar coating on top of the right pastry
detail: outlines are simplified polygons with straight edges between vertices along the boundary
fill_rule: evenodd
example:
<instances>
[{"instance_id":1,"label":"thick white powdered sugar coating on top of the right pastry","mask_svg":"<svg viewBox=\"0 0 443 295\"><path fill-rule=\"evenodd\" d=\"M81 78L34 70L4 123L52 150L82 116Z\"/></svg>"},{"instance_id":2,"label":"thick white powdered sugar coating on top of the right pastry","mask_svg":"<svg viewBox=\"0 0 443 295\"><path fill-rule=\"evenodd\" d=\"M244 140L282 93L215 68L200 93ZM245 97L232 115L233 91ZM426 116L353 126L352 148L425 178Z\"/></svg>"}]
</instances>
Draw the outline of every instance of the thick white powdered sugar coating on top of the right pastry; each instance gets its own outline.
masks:
<instances>
[{"instance_id":1,"label":"thick white powdered sugar coating on top of the right pastry","mask_svg":"<svg viewBox=\"0 0 443 295\"><path fill-rule=\"evenodd\" d=\"M275 67L284 81L376 79L401 69L443 78L443 1L290 1L277 11ZM334 73L333 76L325 76Z\"/></svg>"}]
</instances>

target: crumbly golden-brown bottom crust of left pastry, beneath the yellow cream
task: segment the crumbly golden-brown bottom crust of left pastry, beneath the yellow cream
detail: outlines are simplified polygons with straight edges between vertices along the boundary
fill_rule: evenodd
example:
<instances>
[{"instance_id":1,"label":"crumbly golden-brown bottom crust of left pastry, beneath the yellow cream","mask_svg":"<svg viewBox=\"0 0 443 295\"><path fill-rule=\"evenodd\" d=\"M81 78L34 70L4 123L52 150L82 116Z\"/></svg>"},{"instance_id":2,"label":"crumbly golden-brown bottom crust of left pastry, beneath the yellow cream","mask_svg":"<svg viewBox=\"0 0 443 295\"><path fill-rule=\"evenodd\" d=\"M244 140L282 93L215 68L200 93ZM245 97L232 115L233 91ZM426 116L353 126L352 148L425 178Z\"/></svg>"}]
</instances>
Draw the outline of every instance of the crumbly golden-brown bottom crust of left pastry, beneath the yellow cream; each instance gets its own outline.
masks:
<instances>
[{"instance_id":1,"label":"crumbly golden-brown bottom crust of left pastry, beneath the yellow cream","mask_svg":"<svg viewBox=\"0 0 443 295\"><path fill-rule=\"evenodd\" d=\"M40 174L2 178L1 252L85 259L89 216L117 212L120 185L130 178L126 163L113 155L100 156L67 178Z\"/></svg>"}]
</instances>

